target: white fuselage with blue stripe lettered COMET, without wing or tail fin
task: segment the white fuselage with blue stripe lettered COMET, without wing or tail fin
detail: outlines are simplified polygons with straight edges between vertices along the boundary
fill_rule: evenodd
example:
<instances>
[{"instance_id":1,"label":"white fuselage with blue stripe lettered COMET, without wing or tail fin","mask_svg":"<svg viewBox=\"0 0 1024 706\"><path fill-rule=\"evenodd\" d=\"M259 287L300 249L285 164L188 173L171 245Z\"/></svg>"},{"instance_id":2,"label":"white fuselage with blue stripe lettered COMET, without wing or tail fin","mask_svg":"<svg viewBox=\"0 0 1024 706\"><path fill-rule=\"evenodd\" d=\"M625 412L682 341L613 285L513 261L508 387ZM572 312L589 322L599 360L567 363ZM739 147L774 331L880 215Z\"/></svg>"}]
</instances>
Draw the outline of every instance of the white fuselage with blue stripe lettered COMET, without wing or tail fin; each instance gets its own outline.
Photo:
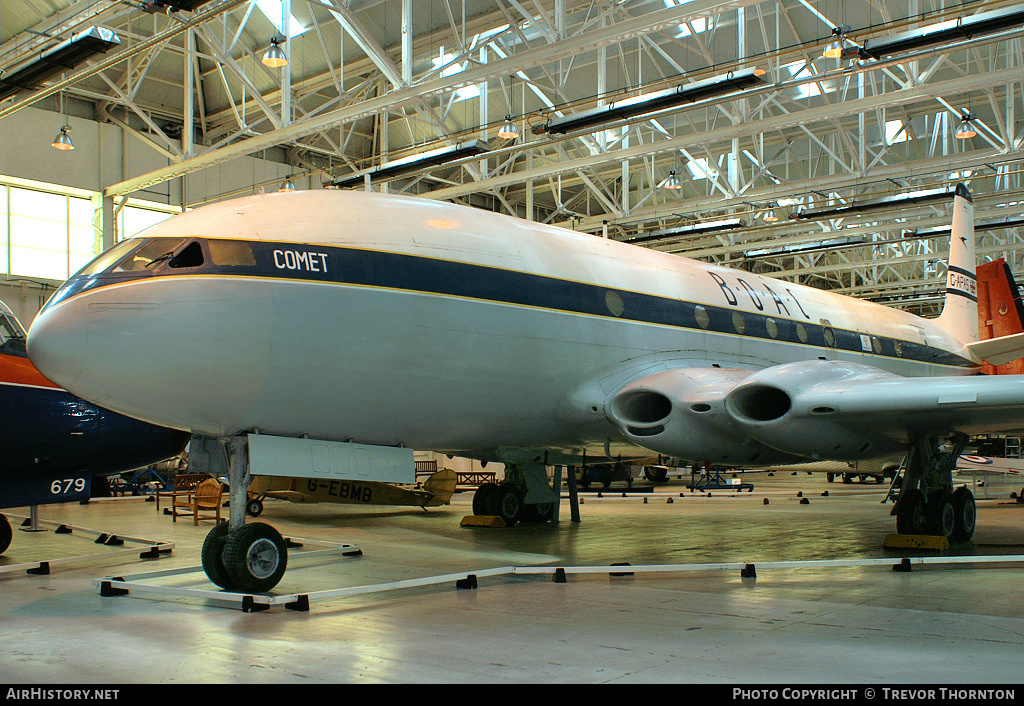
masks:
<instances>
[{"instance_id":1,"label":"white fuselage with blue stripe lettered COMET, without wing or tail fin","mask_svg":"<svg viewBox=\"0 0 1024 706\"><path fill-rule=\"evenodd\" d=\"M146 259L197 240L195 266ZM217 241L224 254L210 251ZM142 243L150 252L117 266ZM150 229L76 276L30 346L68 389L153 423L483 457L620 440L608 397L645 372L707 369L731 385L808 358L901 376L977 369L962 341L903 312L471 208L336 191L250 197ZM693 457L751 460L701 458L699 445Z\"/></svg>"}]
</instances>

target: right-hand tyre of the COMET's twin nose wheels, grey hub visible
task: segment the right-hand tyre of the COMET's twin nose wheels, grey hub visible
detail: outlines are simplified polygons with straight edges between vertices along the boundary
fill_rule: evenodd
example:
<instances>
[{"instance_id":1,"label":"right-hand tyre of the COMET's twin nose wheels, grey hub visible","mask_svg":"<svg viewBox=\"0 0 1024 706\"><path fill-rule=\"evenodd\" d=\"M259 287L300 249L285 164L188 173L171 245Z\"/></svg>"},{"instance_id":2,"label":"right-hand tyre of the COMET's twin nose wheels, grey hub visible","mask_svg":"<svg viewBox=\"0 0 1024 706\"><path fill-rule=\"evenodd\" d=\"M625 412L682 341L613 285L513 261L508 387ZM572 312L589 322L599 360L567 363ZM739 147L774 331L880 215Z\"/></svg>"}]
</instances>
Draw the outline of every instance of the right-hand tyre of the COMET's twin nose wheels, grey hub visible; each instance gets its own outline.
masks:
<instances>
[{"instance_id":1,"label":"right-hand tyre of the COMET's twin nose wheels, grey hub visible","mask_svg":"<svg viewBox=\"0 0 1024 706\"><path fill-rule=\"evenodd\" d=\"M278 585L288 569L288 545L265 523L243 525L224 542L224 570L243 593L263 593Z\"/></svg>"}]
</instances>

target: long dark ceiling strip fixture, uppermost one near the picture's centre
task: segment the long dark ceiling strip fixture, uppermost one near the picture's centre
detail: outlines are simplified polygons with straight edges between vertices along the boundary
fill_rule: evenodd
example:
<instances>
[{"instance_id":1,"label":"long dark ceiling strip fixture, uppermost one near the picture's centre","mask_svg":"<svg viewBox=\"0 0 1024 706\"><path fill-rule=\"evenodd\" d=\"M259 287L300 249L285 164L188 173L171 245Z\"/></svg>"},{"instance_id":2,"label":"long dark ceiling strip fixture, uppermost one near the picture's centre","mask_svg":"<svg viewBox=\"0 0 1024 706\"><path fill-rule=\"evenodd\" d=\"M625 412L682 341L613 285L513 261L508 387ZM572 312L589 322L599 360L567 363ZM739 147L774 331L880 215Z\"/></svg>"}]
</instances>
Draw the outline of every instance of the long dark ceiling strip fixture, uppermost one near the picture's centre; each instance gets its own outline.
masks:
<instances>
[{"instance_id":1,"label":"long dark ceiling strip fixture, uppermost one near the picture's centre","mask_svg":"<svg viewBox=\"0 0 1024 706\"><path fill-rule=\"evenodd\" d=\"M538 125L534 128L534 134L544 134L551 132L555 134L565 134L584 128L593 128L598 125L617 120L626 120L637 116L655 113L670 108L676 108L685 103L696 102L705 98L712 98L728 93L735 93L751 86L764 83L761 78L765 75L763 69L741 69L730 71L714 78L684 83L675 88L667 88L663 91L643 93L632 98L616 100L607 106L595 108L592 111L574 113L562 118L554 118Z\"/></svg>"}]
</instances>

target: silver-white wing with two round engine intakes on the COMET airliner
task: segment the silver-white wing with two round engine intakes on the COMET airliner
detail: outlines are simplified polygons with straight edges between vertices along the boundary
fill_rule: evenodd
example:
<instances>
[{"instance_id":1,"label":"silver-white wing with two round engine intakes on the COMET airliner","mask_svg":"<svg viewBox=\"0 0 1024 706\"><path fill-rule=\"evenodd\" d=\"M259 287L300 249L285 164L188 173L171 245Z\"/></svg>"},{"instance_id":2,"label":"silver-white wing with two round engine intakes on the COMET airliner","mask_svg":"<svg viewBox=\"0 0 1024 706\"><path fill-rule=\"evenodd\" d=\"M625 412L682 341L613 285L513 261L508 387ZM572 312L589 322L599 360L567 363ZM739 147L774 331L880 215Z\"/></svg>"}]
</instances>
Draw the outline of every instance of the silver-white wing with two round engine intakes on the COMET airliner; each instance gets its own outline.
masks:
<instances>
[{"instance_id":1,"label":"silver-white wing with two round engine intakes on the COMET airliner","mask_svg":"<svg viewBox=\"0 0 1024 706\"><path fill-rule=\"evenodd\" d=\"M715 375L714 372L711 373ZM608 416L662 454L710 462L776 463L771 454L860 460L898 453L931 433L1024 427L1024 375L902 377L840 361L802 361L745 375L682 368L623 386ZM714 456L738 449L746 456Z\"/></svg>"}]
</instances>

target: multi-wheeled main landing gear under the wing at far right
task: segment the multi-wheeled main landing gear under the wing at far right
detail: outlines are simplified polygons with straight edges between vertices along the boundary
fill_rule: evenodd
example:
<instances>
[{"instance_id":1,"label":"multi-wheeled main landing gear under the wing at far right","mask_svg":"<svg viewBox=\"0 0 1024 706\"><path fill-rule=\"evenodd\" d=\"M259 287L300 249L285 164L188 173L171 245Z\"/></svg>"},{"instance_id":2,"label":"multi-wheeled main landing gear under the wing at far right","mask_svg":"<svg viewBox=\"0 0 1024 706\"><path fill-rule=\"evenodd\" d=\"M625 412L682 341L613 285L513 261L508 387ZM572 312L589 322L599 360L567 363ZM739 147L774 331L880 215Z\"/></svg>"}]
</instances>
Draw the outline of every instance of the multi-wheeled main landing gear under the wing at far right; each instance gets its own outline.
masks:
<instances>
[{"instance_id":1,"label":"multi-wheeled main landing gear under the wing at far right","mask_svg":"<svg viewBox=\"0 0 1024 706\"><path fill-rule=\"evenodd\" d=\"M974 494L966 487L953 490L952 484L952 470L968 437L956 434L951 441L951 451L942 451L935 437L911 447L903 486L893 508L898 534L934 535L951 542L967 542L974 536Z\"/></svg>"}]
</instances>

